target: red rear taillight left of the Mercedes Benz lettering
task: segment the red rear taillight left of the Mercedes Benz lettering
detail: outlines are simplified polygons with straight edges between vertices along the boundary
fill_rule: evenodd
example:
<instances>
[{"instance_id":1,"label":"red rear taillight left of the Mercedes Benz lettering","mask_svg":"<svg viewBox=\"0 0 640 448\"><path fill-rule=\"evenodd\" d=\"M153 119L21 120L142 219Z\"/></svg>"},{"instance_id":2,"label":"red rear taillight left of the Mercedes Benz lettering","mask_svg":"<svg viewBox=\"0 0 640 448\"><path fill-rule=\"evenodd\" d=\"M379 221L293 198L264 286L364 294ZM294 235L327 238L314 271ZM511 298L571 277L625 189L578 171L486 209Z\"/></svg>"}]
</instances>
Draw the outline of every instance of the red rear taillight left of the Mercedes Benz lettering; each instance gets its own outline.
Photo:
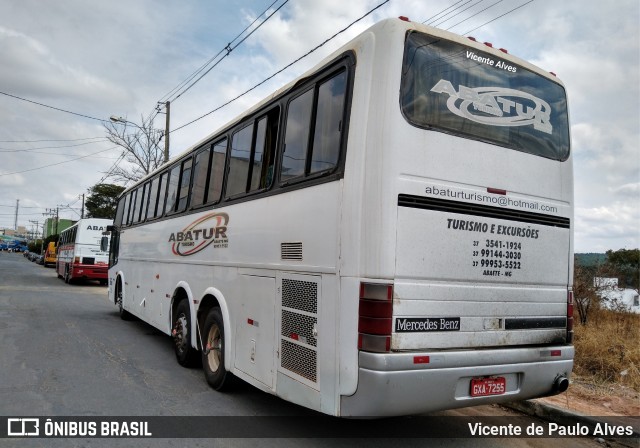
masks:
<instances>
[{"instance_id":1,"label":"red rear taillight left of the Mercedes Benz lettering","mask_svg":"<svg viewBox=\"0 0 640 448\"><path fill-rule=\"evenodd\" d=\"M393 328L393 285L360 283L358 348L388 352Z\"/></svg>"}]
</instances>

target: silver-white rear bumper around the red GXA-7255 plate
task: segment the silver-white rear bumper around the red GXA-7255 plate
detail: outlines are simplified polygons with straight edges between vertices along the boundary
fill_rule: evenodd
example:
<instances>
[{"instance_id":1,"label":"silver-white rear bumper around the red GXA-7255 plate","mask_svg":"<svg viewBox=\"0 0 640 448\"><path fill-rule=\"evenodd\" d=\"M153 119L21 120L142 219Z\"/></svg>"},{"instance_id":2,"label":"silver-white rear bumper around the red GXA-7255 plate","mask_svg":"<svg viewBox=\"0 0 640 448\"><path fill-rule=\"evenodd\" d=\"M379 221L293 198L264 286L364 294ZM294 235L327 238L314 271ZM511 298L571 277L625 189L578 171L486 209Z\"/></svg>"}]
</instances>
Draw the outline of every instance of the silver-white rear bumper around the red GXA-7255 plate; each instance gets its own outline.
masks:
<instances>
[{"instance_id":1,"label":"silver-white rear bumper around the red GXA-7255 plate","mask_svg":"<svg viewBox=\"0 0 640 448\"><path fill-rule=\"evenodd\" d=\"M573 346L390 354L360 352L358 388L355 394L341 397L340 415L410 415L553 395L554 380L571 374L573 354ZM505 377L506 392L472 397L471 379L484 376Z\"/></svg>"}]
</instances>

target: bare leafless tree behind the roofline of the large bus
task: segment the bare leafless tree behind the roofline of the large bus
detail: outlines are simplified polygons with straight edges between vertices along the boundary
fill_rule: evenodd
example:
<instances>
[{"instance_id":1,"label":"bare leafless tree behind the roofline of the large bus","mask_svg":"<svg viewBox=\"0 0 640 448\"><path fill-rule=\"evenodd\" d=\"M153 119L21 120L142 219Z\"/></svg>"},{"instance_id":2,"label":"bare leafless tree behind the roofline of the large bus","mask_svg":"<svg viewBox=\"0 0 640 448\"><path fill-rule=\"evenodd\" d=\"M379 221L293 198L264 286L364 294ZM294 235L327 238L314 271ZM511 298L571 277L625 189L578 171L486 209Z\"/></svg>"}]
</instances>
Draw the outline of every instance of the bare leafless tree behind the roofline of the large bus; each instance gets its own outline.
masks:
<instances>
[{"instance_id":1,"label":"bare leafless tree behind the roofline of the large bus","mask_svg":"<svg viewBox=\"0 0 640 448\"><path fill-rule=\"evenodd\" d=\"M153 128L153 121L141 118L142 126L112 118L113 123L105 123L107 139L124 149L124 158L129 165L116 165L109 177L116 181L135 182L164 163L164 148L160 147L163 131Z\"/></svg>"}]
</instances>

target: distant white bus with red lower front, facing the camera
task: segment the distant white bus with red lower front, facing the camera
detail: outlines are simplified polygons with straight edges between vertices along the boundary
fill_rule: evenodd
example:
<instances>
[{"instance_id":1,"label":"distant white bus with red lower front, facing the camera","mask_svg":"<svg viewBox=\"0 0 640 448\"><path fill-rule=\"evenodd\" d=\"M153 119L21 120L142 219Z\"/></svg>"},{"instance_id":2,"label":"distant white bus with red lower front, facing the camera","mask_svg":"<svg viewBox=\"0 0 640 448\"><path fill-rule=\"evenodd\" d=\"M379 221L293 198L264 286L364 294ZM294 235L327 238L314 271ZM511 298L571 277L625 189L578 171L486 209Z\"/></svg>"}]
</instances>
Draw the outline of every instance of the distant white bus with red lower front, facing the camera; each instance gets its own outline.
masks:
<instances>
[{"instance_id":1,"label":"distant white bus with red lower front, facing the camera","mask_svg":"<svg viewBox=\"0 0 640 448\"><path fill-rule=\"evenodd\" d=\"M102 234L110 219L81 219L60 233L58 278L71 283L76 279L99 280L107 284L109 253L100 248Z\"/></svg>"}]
</instances>

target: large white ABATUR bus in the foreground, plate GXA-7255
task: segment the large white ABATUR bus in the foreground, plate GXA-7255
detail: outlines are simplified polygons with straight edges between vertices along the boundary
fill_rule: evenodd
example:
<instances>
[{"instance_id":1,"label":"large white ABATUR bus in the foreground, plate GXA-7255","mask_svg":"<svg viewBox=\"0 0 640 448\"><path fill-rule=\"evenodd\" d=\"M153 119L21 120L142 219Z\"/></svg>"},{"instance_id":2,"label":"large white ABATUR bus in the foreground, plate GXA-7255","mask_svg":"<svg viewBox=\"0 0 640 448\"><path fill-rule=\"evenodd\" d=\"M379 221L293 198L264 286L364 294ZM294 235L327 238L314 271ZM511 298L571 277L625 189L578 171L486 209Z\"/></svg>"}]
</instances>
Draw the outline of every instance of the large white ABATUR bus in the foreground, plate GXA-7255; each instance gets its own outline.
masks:
<instances>
[{"instance_id":1,"label":"large white ABATUR bus in the foreground, plate GXA-7255","mask_svg":"<svg viewBox=\"0 0 640 448\"><path fill-rule=\"evenodd\" d=\"M564 391L573 174L561 82L389 19L123 192L109 299L336 416Z\"/></svg>"}]
</instances>

